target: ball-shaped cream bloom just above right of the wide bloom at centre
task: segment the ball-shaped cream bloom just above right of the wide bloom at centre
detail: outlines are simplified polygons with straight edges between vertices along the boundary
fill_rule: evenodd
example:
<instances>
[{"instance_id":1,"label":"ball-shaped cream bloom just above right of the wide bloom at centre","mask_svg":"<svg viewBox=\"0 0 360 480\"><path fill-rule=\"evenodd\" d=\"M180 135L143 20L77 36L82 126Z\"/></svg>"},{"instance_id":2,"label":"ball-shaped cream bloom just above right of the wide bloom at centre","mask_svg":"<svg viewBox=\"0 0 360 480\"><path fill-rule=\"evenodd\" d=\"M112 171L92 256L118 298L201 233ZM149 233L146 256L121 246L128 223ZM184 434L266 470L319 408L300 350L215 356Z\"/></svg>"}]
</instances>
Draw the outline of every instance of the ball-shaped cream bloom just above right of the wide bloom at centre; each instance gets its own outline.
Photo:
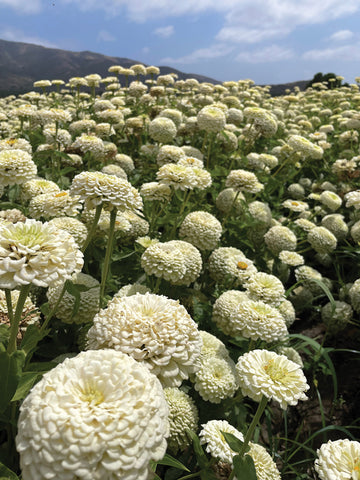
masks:
<instances>
[{"instance_id":1,"label":"ball-shaped cream bloom just above right of the wide bloom at centre","mask_svg":"<svg viewBox=\"0 0 360 480\"><path fill-rule=\"evenodd\" d=\"M189 213L183 220L179 237L199 250L213 250L221 237L222 226L219 220L208 212Z\"/></svg>"}]
</instances>

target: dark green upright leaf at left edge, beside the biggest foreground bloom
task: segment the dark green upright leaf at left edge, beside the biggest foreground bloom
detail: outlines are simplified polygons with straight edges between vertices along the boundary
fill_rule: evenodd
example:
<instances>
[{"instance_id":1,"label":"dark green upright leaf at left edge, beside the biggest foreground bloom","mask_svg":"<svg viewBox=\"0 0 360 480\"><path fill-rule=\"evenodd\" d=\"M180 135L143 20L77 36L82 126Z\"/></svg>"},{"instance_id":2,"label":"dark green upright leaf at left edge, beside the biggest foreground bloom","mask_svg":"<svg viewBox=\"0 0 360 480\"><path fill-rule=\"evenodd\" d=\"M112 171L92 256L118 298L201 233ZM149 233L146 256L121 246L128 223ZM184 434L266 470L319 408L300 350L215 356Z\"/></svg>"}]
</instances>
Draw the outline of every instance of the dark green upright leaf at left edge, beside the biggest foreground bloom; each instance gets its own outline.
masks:
<instances>
[{"instance_id":1,"label":"dark green upright leaf at left edge, beside the biggest foreground bloom","mask_svg":"<svg viewBox=\"0 0 360 480\"><path fill-rule=\"evenodd\" d=\"M0 413L6 409L16 392L24 362L25 353L22 350L10 355L7 352L0 352Z\"/></svg>"}]
</instances>

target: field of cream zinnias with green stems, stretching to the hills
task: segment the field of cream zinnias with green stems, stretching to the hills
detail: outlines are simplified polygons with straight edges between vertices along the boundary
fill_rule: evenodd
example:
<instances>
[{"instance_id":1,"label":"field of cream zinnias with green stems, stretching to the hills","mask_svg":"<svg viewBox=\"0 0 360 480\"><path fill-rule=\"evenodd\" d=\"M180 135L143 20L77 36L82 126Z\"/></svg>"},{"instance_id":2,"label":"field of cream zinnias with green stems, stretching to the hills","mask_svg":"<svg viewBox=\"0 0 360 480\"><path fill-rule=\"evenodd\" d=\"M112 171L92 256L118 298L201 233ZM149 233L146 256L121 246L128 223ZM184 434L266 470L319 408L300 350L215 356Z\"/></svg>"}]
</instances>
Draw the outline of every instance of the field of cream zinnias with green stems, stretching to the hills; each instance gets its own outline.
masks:
<instances>
[{"instance_id":1,"label":"field of cream zinnias with green stems, stretching to the hills","mask_svg":"<svg viewBox=\"0 0 360 480\"><path fill-rule=\"evenodd\" d=\"M0 99L0 479L360 478L356 81Z\"/></svg>"}]
</instances>

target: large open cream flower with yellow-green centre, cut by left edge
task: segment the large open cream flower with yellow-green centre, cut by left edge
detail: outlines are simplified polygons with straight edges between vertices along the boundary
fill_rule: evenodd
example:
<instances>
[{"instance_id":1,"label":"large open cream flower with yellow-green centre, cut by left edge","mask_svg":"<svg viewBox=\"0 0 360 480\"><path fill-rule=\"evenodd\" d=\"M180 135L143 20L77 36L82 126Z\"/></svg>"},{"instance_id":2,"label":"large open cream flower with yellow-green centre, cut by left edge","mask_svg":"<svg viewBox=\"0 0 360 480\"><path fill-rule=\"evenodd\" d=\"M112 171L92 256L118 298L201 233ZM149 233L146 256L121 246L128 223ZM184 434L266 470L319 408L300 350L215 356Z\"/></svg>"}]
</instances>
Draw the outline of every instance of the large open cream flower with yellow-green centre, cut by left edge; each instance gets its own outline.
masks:
<instances>
[{"instance_id":1,"label":"large open cream flower with yellow-green centre, cut by left edge","mask_svg":"<svg viewBox=\"0 0 360 480\"><path fill-rule=\"evenodd\" d=\"M0 227L0 287L40 287L80 272L83 255L74 238L48 223L26 220Z\"/></svg>"}]
</instances>

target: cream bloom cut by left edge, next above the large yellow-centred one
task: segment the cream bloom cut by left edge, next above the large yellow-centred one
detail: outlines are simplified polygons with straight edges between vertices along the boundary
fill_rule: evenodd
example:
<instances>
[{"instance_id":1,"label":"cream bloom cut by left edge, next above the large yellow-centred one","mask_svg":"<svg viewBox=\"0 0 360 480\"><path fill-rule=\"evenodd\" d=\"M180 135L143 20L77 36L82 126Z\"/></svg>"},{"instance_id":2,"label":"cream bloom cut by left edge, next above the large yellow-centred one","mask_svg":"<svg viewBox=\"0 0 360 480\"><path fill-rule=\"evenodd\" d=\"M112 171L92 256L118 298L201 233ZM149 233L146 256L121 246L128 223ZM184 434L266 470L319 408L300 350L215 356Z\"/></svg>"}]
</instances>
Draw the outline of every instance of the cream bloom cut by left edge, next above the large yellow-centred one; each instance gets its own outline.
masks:
<instances>
[{"instance_id":1,"label":"cream bloom cut by left edge, next above the large yellow-centred one","mask_svg":"<svg viewBox=\"0 0 360 480\"><path fill-rule=\"evenodd\" d=\"M19 149L0 152L0 185L20 185L36 174L37 166L29 153Z\"/></svg>"}]
</instances>

